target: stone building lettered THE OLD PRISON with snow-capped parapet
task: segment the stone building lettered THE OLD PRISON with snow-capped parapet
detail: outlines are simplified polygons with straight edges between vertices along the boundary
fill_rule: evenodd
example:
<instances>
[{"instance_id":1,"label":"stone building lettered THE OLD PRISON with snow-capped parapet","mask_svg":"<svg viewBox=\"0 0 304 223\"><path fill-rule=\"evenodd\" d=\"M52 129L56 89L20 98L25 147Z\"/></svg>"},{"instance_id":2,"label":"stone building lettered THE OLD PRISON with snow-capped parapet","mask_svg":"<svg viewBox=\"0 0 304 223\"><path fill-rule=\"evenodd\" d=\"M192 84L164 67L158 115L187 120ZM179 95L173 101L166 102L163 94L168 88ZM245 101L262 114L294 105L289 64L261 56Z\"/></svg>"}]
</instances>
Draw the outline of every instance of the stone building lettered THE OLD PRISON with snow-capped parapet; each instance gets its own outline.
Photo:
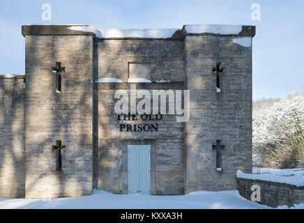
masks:
<instances>
[{"instance_id":1,"label":"stone building lettered THE OLD PRISON with snow-capped parapet","mask_svg":"<svg viewBox=\"0 0 304 223\"><path fill-rule=\"evenodd\" d=\"M0 197L236 189L236 170L252 169L254 34L22 26L25 75L0 76ZM189 90L189 120L116 114L132 86Z\"/></svg>"}]
</instances>

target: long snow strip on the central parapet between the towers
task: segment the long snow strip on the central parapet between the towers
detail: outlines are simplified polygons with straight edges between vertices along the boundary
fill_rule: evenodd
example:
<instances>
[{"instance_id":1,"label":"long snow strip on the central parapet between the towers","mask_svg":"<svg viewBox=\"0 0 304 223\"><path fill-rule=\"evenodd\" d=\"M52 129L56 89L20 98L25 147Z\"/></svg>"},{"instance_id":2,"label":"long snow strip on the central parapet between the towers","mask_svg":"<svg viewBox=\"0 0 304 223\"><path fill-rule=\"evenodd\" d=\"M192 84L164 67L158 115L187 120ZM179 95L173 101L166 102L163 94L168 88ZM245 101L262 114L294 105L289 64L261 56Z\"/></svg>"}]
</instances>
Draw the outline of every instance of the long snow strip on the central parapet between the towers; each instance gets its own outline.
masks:
<instances>
[{"instance_id":1,"label":"long snow strip on the central parapet between the towers","mask_svg":"<svg viewBox=\"0 0 304 223\"><path fill-rule=\"evenodd\" d=\"M98 38L171 38L177 30L178 29L98 29Z\"/></svg>"}]
</instances>

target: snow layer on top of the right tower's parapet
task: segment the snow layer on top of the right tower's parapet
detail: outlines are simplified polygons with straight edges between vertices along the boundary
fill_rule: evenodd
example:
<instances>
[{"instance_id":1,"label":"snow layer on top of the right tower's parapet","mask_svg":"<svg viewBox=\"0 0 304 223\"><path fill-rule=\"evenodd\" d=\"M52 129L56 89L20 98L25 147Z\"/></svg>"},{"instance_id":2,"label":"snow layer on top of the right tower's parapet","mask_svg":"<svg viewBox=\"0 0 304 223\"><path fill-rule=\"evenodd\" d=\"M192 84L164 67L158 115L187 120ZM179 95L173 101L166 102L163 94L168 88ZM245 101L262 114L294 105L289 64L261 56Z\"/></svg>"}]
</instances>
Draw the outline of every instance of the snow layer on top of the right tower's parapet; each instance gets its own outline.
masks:
<instances>
[{"instance_id":1,"label":"snow layer on top of the right tower's parapet","mask_svg":"<svg viewBox=\"0 0 304 223\"><path fill-rule=\"evenodd\" d=\"M221 35L238 35L242 31L241 25L185 25L187 33L214 33Z\"/></svg>"}]
</instances>

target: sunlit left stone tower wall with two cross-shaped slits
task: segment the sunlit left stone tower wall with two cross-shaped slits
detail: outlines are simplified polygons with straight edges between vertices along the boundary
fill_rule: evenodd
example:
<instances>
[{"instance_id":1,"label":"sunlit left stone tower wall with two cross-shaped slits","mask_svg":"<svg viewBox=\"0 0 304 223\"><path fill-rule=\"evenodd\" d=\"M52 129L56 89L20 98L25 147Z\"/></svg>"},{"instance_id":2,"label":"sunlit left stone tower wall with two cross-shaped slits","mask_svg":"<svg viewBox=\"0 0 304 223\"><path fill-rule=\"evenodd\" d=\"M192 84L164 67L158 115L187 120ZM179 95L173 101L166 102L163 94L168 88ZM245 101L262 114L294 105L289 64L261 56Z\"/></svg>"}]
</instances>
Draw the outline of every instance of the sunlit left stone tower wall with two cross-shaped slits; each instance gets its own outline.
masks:
<instances>
[{"instance_id":1,"label":"sunlit left stone tower wall with two cross-shaped slits","mask_svg":"<svg viewBox=\"0 0 304 223\"><path fill-rule=\"evenodd\" d=\"M55 26L56 27L56 26ZM68 29L48 36L24 28L26 52L26 198L92 193L93 38ZM36 34L36 35L33 35ZM43 33L45 34L45 33ZM73 33L72 33L73 34ZM66 68L56 93L56 62ZM62 170L52 145L61 140Z\"/></svg>"}]
</instances>

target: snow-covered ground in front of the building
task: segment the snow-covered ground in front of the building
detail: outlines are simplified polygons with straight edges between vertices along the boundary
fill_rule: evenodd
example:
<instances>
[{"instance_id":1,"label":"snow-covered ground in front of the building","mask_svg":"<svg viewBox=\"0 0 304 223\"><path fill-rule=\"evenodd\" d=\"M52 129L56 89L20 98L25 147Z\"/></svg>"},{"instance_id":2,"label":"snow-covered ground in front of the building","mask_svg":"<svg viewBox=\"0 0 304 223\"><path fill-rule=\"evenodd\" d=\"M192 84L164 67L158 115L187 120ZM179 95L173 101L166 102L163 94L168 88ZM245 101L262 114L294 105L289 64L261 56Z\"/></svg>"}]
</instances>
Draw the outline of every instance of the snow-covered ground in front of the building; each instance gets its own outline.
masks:
<instances>
[{"instance_id":1,"label":"snow-covered ground in front of the building","mask_svg":"<svg viewBox=\"0 0 304 223\"><path fill-rule=\"evenodd\" d=\"M237 190L192 192L176 196L111 194L96 190L91 196L41 199L0 199L0 208L269 208L241 197Z\"/></svg>"}]
</instances>

